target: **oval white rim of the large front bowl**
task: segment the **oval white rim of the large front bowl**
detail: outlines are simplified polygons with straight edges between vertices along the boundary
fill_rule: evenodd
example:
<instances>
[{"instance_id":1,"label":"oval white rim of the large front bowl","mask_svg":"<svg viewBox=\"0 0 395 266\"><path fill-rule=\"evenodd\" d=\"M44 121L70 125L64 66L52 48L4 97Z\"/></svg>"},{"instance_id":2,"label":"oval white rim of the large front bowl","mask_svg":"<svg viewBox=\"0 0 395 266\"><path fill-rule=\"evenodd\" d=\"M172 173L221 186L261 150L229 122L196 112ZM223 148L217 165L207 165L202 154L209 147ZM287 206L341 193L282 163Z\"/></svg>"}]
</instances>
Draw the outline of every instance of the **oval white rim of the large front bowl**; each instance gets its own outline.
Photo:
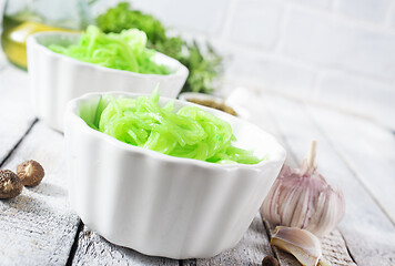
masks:
<instances>
[{"instance_id":1,"label":"oval white rim of the large front bowl","mask_svg":"<svg viewBox=\"0 0 395 266\"><path fill-rule=\"evenodd\" d=\"M140 153L140 154L146 154L149 156L155 157L158 160L162 160L162 161L169 161L169 162L173 162L173 163L182 163L182 164L194 164L196 166L201 166L201 167L210 167L210 168L223 168L223 170L232 170L232 168L261 168L264 165L271 163L271 162L277 162L277 161L284 161L285 156L286 156L286 152L285 149L278 143L278 141L270 133L265 132L264 130L262 130L261 127L256 126L255 124L249 122L249 121L244 121L242 119L235 117L231 114L224 113L222 111L219 110L214 110L214 109L210 109L210 108L205 108L199 104L194 104L191 102L186 102L186 101L182 101L182 100L175 100L175 99L170 99L170 98L162 98L161 100L165 100L165 101L174 101L174 102L179 102L181 103L183 106L185 105L191 105L191 106L196 106L200 108L209 113L212 113L214 115L220 114L220 115L225 115L229 116L231 120L236 120L237 123L242 123L242 124L246 124L250 127L253 127L256 131L260 131L262 134L265 135L265 139L267 139L270 142L273 142L276 146L276 152L271 154L271 156L269 158L264 158L262 162L257 163L257 164L241 164L241 163L231 163L231 164L217 164L217 163L210 163L210 162L205 162L205 161L201 161L201 160L195 160L195 158L185 158L185 157L176 157L176 156L171 156L168 154L163 154L156 151L152 151L149 149L143 149L140 146L134 146L128 143L124 143L122 141L117 140L113 136L110 136L105 133L102 133L100 131L97 131L92 127L90 127L87 122L80 117L77 112L79 111L79 103L88 100L90 98L93 96L102 96L102 95L117 95L117 96L131 96L131 98L136 98L136 96L149 96L149 94L143 94L143 93L129 93L129 92L121 92L121 91L114 91L114 92L91 92L91 93L87 93L83 94L82 96L75 98L73 100L71 100L68 103L68 108L67 108L67 112L65 115L68 114L72 114L73 120L79 124L79 126L81 127L81 130L83 131L88 131L89 134L95 135L98 137L101 137L102 140L104 140L105 142L109 142L112 145L115 145L117 147L125 151L125 152L133 152L133 153ZM67 127L68 125L65 124L64 127Z\"/></svg>"}]
</instances>

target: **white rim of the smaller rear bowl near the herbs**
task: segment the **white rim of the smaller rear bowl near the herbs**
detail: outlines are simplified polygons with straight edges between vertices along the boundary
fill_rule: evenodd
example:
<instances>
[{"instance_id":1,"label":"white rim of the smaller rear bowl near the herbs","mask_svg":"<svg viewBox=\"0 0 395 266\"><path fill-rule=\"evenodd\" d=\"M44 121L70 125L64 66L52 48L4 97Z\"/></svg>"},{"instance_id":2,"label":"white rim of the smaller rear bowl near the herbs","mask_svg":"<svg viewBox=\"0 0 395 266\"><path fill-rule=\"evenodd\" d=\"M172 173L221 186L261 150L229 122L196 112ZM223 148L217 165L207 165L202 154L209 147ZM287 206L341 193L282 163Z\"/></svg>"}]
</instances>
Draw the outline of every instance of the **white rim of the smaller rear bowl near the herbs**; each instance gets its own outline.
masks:
<instances>
[{"instance_id":1,"label":"white rim of the smaller rear bowl near the herbs","mask_svg":"<svg viewBox=\"0 0 395 266\"><path fill-rule=\"evenodd\" d=\"M173 59L171 57L168 57L168 55L165 55L165 54L163 54L161 52L158 52L156 50L154 50L155 54L154 54L153 58L155 60L163 59L163 60L171 61L172 64L174 64L173 68L172 68L172 65L169 65L168 63L161 63L161 64L170 66L174 72L172 72L170 74L152 74L152 73L151 74L144 74L144 73L138 73L138 72L132 72L132 71L128 71L128 70L112 69L112 68L103 66L103 65L100 65L100 64L84 62L84 61L81 61L81 60L78 60L78 59L61 54L61 53L57 53L57 52L52 51L51 49L49 49L48 47L45 47L44 44L41 44L39 42L39 39L41 37L48 37L48 35L77 38L77 37L80 37L81 33L79 33L79 32L62 32L62 31L37 32L37 33L31 34L28 38L27 44L28 45L32 45L32 44L33 45L38 45L40 49L43 49L43 51L45 53L50 54L51 57L59 58L59 59L65 60L65 61L70 61L71 63L74 63L74 64L78 64L78 65L91 66L91 68L98 69L100 71L120 72L120 73L123 73L125 75L131 75L131 76L155 76L155 78L169 76L169 78L171 78L171 76L179 76L179 75L182 76L183 72L185 72L185 71L186 71L186 73L189 73L189 70L186 69L185 65L183 65L178 60L175 60L175 59Z\"/></svg>"}]
</instances>

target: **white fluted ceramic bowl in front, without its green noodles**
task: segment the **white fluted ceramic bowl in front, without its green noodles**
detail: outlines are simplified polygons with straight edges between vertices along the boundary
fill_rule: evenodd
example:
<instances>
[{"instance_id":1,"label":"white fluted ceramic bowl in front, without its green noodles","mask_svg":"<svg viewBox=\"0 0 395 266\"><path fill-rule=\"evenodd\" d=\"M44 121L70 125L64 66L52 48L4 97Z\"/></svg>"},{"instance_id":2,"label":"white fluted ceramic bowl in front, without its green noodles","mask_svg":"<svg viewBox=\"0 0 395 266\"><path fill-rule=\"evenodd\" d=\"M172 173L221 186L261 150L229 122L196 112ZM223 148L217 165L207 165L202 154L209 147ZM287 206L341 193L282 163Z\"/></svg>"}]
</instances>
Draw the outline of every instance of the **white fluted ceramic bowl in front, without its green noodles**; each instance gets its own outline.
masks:
<instances>
[{"instance_id":1,"label":"white fluted ceramic bowl in front, without its green noodles","mask_svg":"<svg viewBox=\"0 0 395 266\"><path fill-rule=\"evenodd\" d=\"M246 121L202 108L231 123L237 146L267 158L221 165L164 155L89 127L84 120L93 121L101 95L72 100L65 113L69 197L83 223L114 244L154 256L212 257L235 246L283 165L285 151L276 140ZM161 98L160 104L168 101ZM195 104L174 102L175 110L184 105Z\"/></svg>"}]
</instances>

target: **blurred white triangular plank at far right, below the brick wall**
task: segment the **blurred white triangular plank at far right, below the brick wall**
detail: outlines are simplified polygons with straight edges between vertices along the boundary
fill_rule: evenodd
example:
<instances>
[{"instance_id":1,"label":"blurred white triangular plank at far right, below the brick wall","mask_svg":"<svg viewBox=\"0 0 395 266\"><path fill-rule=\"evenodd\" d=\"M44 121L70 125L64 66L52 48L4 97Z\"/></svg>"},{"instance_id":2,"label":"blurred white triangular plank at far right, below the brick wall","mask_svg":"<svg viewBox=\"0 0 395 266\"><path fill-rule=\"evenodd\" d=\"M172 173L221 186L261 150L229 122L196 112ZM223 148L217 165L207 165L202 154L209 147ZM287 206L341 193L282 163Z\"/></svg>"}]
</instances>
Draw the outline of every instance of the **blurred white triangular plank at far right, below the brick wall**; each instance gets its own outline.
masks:
<instances>
[{"instance_id":1,"label":"blurred white triangular plank at far right, below the brick wall","mask_svg":"<svg viewBox=\"0 0 395 266\"><path fill-rule=\"evenodd\" d=\"M308 112L395 224L395 137L371 121L310 106Z\"/></svg>"}]
</instances>

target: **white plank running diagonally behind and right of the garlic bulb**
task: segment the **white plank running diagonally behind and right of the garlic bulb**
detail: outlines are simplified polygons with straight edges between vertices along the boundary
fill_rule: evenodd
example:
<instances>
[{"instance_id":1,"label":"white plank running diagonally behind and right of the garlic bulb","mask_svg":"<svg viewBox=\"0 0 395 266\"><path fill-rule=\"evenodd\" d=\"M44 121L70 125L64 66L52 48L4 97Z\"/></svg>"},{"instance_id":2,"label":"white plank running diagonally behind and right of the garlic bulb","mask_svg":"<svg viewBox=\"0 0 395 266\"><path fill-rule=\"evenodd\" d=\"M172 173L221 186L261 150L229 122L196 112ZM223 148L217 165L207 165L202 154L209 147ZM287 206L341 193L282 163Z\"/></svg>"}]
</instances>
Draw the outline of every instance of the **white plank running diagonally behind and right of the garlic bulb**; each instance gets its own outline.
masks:
<instances>
[{"instance_id":1,"label":"white plank running diagonally behind and right of the garlic bulb","mask_svg":"<svg viewBox=\"0 0 395 266\"><path fill-rule=\"evenodd\" d=\"M262 98L298 162L311 139L318 141L318 171L345 194L346 214L338 228L358 265L394 265L395 228L361 185L332 142L310 117L305 105L274 95Z\"/></svg>"}]
</instances>

